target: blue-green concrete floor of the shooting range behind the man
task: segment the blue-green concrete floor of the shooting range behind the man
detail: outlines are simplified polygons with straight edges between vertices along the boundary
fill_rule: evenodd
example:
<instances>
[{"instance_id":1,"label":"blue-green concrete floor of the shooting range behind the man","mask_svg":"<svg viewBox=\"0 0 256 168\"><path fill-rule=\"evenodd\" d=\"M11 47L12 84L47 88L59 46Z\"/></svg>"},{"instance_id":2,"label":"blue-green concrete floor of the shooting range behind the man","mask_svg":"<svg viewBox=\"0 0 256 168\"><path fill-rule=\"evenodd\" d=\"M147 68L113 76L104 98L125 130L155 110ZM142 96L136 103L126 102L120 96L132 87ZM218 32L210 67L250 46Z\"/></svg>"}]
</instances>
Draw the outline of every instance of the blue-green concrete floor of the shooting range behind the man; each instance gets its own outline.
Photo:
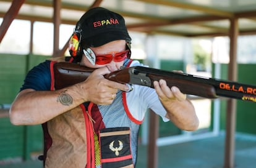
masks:
<instances>
[{"instance_id":1,"label":"blue-green concrete floor of the shooting range behind the man","mask_svg":"<svg viewBox=\"0 0 256 168\"><path fill-rule=\"evenodd\" d=\"M224 134L218 137L205 138L192 142L160 146L158 148L158 168L223 168L224 166ZM41 168L41 162L10 162L1 168ZM136 168L147 167L147 146L139 145ZM234 167L256 167L256 136L236 134L236 150ZM227 167L231 168L231 167Z\"/></svg>"}]
</instances>

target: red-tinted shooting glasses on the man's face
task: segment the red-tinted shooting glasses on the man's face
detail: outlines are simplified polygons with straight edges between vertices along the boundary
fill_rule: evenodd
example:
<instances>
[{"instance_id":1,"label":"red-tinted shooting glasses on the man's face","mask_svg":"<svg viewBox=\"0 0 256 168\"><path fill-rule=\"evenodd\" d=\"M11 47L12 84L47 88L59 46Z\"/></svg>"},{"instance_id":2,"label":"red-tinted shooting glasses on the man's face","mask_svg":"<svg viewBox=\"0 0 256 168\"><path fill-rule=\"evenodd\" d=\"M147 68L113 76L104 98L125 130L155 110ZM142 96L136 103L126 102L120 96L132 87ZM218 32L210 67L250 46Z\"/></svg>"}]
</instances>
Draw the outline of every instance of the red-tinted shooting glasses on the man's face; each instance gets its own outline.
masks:
<instances>
[{"instance_id":1,"label":"red-tinted shooting glasses on the man's face","mask_svg":"<svg viewBox=\"0 0 256 168\"><path fill-rule=\"evenodd\" d=\"M129 52L130 50L124 50L113 54L96 55L95 64L104 65L110 63L112 60L114 62L121 62L127 58Z\"/></svg>"}]
</instances>

